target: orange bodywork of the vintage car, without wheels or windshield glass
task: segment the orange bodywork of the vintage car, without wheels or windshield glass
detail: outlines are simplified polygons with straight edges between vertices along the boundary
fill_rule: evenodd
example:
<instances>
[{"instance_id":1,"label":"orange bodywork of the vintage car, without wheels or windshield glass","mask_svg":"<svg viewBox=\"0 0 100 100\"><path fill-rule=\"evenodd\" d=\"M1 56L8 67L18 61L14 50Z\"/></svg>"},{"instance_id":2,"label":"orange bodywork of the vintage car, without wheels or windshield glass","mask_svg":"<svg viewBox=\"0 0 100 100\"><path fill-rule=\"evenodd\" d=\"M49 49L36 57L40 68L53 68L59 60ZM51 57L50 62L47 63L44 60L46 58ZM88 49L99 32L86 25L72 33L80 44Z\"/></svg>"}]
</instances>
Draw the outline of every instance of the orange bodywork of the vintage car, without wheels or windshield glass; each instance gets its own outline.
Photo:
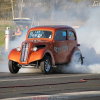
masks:
<instances>
[{"instance_id":1,"label":"orange bodywork of the vintage car, without wheels or windshield glass","mask_svg":"<svg viewBox=\"0 0 100 100\"><path fill-rule=\"evenodd\" d=\"M52 36L50 38L29 38L30 32L32 31L49 31L52 33ZM63 33L64 40L55 39L57 35L59 36L59 32ZM28 44L26 55L23 54L24 44ZM28 30L26 40L22 42L21 50L17 51L13 49L9 53L8 59L18 62L20 65L28 65L32 62L42 60L44 55L49 55L52 65L68 63L71 61L74 51L79 50L78 46L76 32L72 27L38 26ZM34 47L38 48L37 51L33 51Z\"/></svg>"}]
</instances>

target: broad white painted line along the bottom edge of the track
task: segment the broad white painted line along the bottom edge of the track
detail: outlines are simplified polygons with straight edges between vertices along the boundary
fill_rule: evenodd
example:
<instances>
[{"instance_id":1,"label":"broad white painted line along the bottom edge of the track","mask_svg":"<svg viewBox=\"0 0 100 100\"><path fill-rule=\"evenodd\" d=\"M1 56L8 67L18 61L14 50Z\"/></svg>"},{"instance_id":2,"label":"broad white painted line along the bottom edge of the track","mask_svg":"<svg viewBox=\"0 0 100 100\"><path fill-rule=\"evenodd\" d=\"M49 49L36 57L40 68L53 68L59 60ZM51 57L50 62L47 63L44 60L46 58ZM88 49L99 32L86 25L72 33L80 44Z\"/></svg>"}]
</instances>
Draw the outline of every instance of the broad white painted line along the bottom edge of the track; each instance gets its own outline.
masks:
<instances>
[{"instance_id":1,"label":"broad white painted line along the bottom edge of the track","mask_svg":"<svg viewBox=\"0 0 100 100\"><path fill-rule=\"evenodd\" d=\"M68 99L78 99L78 98L81 99L81 98L96 97L96 96L100 96L100 91L58 93L58 94L53 94L53 95L36 95L36 96L26 96L26 97L17 97L17 98L5 98L1 100L41 100L41 98L48 98L48 99L43 99L43 100L55 100L57 98L65 98L63 100L68 100ZM52 99L49 99L49 98L52 98Z\"/></svg>"}]
</instances>

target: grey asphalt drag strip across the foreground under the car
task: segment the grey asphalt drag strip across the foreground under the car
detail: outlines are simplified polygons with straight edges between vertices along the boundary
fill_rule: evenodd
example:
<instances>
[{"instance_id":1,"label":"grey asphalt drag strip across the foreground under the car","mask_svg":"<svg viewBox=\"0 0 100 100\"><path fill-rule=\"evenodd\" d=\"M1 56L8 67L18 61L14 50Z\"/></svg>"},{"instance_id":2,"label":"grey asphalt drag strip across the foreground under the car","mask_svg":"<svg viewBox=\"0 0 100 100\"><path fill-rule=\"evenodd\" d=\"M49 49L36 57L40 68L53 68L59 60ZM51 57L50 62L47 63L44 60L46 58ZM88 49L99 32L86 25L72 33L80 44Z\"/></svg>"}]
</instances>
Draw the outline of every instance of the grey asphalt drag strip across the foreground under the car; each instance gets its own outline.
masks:
<instances>
[{"instance_id":1,"label":"grey asphalt drag strip across the foreground under the car","mask_svg":"<svg viewBox=\"0 0 100 100\"><path fill-rule=\"evenodd\" d=\"M100 100L100 74L0 73L0 100L80 98Z\"/></svg>"}]
</instances>

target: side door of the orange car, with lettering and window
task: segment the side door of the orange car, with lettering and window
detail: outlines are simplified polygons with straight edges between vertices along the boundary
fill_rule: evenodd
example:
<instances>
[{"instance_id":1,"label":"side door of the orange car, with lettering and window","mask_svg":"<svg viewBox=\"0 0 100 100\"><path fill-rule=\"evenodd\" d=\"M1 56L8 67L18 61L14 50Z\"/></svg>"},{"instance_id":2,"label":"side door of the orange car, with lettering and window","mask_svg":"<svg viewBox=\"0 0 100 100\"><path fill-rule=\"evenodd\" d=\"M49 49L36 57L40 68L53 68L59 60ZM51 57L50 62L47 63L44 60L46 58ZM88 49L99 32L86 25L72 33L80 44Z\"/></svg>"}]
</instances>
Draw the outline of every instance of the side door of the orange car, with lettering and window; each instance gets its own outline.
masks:
<instances>
[{"instance_id":1,"label":"side door of the orange car, with lettering and window","mask_svg":"<svg viewBox=\"0 0 100 100\"><path fill-rule=\"evenodd\" d=\"M66 30L58 30L54 37L54 58L56 64L68 62L69 43Z\"/></svg>"}]
</instances>

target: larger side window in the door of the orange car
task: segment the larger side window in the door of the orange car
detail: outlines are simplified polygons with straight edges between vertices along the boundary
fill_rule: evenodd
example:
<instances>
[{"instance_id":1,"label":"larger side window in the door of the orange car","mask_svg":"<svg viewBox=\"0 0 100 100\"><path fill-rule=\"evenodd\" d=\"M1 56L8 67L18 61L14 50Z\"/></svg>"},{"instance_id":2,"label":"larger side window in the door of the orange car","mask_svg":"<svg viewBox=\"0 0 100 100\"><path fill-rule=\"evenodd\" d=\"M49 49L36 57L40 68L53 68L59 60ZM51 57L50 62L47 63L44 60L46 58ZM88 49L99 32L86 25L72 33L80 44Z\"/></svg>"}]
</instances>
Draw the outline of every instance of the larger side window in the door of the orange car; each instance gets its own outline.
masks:
<instances>
[{"instance_id":1,"label":"larger side window in the door of the orange car","mask_svg":"<svg viewBox=\"0 0 100 100\"><path fill-rule=\"evenodd\" d=\"M67 40L66 31L56 31L55 33L55 41L65 41Z\"/></svg>"}]
</instances>

